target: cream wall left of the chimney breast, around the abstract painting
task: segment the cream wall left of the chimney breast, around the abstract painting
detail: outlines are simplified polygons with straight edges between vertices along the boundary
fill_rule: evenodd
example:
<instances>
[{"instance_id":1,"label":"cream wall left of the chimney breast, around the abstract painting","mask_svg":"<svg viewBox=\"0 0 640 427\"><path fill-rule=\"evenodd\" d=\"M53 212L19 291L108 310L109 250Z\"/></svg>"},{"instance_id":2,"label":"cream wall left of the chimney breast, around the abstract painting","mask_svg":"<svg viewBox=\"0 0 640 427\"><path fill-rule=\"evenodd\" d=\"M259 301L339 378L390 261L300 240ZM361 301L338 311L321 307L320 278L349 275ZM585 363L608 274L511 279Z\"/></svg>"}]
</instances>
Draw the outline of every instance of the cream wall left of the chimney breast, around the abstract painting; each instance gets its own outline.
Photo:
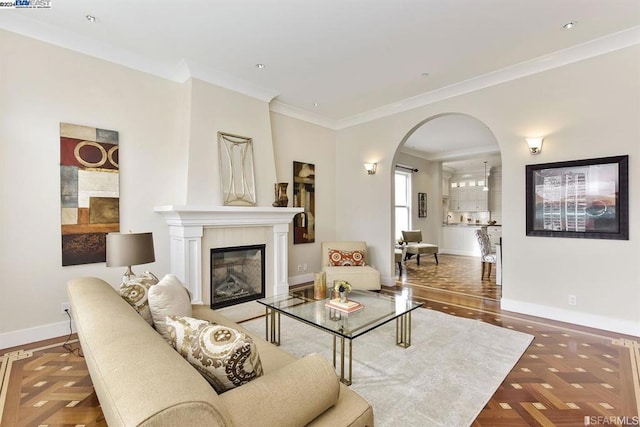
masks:
<instances>
[{"instance_id":1,"label":"cream wall left of the chimney breast, around the abstract painting","mask_svg":"<svg viewBox=\"0 0 640 427\"><path fill-rule=\"evenodd\" d=\"M4 348L16 337L26 342L68 331L60 304L68 300L69 279L95 275L117 283L123 273L104 263L61 266L59 123L120 133L121 230L155 237L156 263L136 271L168 265L168 241L160 237L166 225L151 207L176 195L181 141L175 83L5 31L0 58Z\"/></svg>"}]
</instances>

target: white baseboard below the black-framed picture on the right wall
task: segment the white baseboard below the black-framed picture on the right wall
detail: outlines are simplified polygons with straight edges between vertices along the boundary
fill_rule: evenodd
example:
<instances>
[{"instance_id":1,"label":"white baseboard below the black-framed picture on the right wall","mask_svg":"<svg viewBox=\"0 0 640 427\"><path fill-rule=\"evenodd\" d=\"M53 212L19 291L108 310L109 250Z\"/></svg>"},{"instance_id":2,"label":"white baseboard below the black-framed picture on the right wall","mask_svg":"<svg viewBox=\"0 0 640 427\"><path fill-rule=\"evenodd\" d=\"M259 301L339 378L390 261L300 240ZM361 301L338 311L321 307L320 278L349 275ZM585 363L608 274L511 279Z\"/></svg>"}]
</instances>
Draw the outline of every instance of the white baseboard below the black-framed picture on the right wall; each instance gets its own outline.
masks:
<instances>
[{"instance_id":1,"label":"white baseboard below the black-framed picture on the right wall","mask_svg":"<svg viewBox=\"0 0 640 427\"><path fill-rule=\"evenodd\" d=\"M640 337L640 322L502 298L502 310Z\"/></svg>"}]
</instances>

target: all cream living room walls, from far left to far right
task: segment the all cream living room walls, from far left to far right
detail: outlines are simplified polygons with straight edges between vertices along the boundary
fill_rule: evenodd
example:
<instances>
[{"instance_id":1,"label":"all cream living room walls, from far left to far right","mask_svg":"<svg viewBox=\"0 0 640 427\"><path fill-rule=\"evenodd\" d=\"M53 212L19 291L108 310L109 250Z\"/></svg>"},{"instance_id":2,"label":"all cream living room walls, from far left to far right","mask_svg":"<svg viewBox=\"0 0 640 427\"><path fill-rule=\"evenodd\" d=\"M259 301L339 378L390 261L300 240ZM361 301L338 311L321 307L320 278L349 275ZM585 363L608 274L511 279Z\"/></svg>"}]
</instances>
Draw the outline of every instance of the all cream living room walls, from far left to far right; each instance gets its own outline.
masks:
<instances>
[{"instance_id":1,"label":"all cream living room walls, from far left to far right","mask_svg":"<svg viewBox=\"0 0 640 427\"><path fill-rule=\"evenodd\" d=\"M397 147L416 124L447 112L483 121L502 150L503 306L640 335L639 57L640 47L627 48L336 132L204 82L178 84L0 31L0 348L64 335L70 278L117 283L122 274L104 264L61 267L60 122L120 132L121 228L152 231L156 244L156 262L137 271L169 270L167 227L154 206L219 196L220 130L254 137L267 160L273 150L275 165L256 173L260 205L273 201L275 181L291 182L294 160L316 165L316 243L290 246L292 278L319 270L319 242L338 238L367 241L390 279ZM539 132L543 152L532 157L523 138ZM524 235L526 164L619 154L630 155L629 241ZM364 173L368 161L378 162L373 176ZM190 182L199 185L187 191Z\"/></svg>"}]
</instances>

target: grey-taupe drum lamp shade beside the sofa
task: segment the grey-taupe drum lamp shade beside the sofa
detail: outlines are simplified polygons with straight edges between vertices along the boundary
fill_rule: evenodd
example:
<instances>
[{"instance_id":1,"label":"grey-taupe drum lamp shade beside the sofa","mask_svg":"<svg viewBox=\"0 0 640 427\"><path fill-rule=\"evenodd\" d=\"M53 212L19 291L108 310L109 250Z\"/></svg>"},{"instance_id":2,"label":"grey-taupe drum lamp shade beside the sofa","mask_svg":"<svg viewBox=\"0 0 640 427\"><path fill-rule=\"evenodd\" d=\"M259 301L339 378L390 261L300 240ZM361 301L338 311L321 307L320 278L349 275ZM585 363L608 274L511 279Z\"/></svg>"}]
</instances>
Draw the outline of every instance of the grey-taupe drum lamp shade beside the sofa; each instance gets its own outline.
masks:
<instances>
[{"instance_id":1,"label":"grey-taupe drum lamp shade beside the sofa","mask_svg":"<svg viewBox=\"0 0 640 427\"><path fill-rule=\"evenodd\" d=\"M107 234L107 267L130 267L155 260L153 233Z\"/></svg>"}]
</instances>

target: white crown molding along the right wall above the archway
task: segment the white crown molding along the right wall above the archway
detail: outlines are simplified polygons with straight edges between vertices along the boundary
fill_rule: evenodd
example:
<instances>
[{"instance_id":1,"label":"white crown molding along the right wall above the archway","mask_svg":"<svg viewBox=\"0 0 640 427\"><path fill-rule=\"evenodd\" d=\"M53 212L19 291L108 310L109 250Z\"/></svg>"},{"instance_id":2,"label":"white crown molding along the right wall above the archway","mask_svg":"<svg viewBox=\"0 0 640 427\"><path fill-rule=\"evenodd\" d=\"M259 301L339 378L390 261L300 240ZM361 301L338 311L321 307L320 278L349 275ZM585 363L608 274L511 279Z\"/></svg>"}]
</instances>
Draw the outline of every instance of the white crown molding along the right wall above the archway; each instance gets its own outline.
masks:
<instances>
[{"instance_id":1,"label":"white crown molding along the right wall above the archway","mask_svg":"<svg viewBox=\"0 0 640 427\"><path fill-rule=\"evenodd\" d=\"M616 50L640 44L640 26L609 34L577 46L540 56L530 61L521 62L491 73L474 77L459 83L445 86L400 102L388 104L365 113L356 114L337 121L337 128L344 129L362 123L377 120L393 114L413 110L455 96L475 92L490 86L517 80L532 74L562 67L574 62L603 55Z\"/></svg>"}]
</instances>

